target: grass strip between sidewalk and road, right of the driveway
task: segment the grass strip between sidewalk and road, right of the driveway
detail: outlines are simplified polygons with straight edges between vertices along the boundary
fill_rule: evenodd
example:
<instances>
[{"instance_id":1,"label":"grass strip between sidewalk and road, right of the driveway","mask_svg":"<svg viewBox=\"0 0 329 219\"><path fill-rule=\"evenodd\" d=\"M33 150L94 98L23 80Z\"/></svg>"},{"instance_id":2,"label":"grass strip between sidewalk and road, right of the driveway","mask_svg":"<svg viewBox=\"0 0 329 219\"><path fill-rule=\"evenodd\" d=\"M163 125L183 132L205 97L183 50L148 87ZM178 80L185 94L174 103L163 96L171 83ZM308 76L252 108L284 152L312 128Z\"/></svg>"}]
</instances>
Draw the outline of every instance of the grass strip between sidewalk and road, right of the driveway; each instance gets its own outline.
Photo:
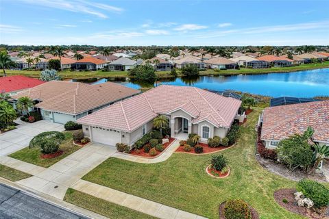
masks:
<instances>
[{"instance_id":1,"label":"grass strip between sidewalk and road, right of the driveway","mask_svg":"<svg viewBox=\"0 0 329 219\"><path fill-rule=\"evenodd\" d=\"M79 207L83 207L84 209L94 211L95 213L101 214L108 218L118 218L118 219L119 218L122 219L154 218L147 214L143 214L133 209L129 209L121 205L104 201L101 198L96 198L95 196L90 196L89 194L86 194L84 192L79 192L71 188L67 190L64 197L64 201L68 203L72 203L73 205L77 205Z\"/></svg>"}]
</instances>

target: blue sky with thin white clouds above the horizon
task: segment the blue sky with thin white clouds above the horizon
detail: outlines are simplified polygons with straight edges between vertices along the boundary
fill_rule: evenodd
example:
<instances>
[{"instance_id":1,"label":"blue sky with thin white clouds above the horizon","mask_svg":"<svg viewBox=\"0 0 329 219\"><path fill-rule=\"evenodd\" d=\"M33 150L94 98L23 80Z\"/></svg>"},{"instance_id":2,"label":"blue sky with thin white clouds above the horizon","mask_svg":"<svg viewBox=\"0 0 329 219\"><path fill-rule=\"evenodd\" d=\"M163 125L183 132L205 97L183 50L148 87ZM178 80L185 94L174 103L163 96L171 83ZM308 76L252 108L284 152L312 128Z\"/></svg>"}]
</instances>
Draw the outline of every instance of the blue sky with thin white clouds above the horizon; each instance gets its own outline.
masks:
<instances>
[{"instance_id":1,"label":"blue sky with thin white clouds above the horizon","mask_svg":"<svg viewBox=\"0 0 329 219\"><path fill-rule=\"evenodd\" d=\"M328 8L328 0L0 0L0 43L328 45Z\"/></svg>"}]
</instances>

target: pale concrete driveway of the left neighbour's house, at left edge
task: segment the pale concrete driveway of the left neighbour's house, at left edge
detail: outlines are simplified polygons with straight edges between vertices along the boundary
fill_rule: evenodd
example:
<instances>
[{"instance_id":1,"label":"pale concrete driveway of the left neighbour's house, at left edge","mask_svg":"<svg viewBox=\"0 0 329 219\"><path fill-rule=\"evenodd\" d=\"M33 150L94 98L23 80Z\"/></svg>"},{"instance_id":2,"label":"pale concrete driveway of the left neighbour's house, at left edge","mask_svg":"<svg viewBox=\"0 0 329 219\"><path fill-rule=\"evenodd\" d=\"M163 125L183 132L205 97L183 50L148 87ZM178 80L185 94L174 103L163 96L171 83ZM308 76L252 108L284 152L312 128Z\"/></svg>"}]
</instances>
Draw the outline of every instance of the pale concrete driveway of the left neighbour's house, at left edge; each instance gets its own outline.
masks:
<instances>
[{"instance_id":1,"label":"pale concrete driveway of the left neighbour's house, at left edge","mask_svg":"<svg viewBox=\"0 0 329 219\"><path fill-rule=\"evenodd\" d=\"M9 155L29 145L29 141L43 131L64 131L64 125L40 120L36 123L25 123L15 120L16 129L0 134L0 156Z\"/></svg>"}]
</instances>

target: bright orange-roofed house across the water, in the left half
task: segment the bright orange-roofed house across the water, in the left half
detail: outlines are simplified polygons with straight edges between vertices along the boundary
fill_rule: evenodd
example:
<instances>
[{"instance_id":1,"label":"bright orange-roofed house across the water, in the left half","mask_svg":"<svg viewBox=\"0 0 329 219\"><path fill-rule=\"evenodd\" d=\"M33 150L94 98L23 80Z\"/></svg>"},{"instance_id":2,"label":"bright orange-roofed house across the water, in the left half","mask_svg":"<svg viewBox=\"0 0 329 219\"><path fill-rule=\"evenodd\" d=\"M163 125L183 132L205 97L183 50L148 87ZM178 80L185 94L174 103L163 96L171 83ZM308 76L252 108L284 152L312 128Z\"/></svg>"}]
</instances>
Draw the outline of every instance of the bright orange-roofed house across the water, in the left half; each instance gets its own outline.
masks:
<instances>
[{"instance_id":1,"label":"bright orange-roofed house across the water, in the left half","mask_svg":"<svg viewBox=\"0 0 329 219\"><path fill-rule=\"evenodd\" d=\"M95 57L84 57L81 60L77 60L71 64L73 70L98 70L105 68L107 65L106 61L99 60Z\"/></svg>"}]
</instances>

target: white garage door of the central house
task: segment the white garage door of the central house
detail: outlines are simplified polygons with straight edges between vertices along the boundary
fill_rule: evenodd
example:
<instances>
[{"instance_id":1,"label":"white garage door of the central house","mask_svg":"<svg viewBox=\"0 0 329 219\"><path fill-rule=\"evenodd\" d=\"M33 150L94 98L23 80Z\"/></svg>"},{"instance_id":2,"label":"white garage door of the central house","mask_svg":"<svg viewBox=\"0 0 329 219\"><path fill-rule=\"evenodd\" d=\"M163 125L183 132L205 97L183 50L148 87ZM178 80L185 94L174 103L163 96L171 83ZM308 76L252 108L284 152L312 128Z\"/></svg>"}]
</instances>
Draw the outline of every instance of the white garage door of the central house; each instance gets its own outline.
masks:
<instances>
[{"instance_id":1,"label":"white garage door of the central house","mask_svg":"<svg viewBox=\"0 0 329 219\"><path fill-rule=\"evenodd\" d=\"M99 127L92 128L93 142L99 142L101 144L115 145L121 142L121 136L119 131L111 129L102 129Z\"/></svg>"}]
</instances>

